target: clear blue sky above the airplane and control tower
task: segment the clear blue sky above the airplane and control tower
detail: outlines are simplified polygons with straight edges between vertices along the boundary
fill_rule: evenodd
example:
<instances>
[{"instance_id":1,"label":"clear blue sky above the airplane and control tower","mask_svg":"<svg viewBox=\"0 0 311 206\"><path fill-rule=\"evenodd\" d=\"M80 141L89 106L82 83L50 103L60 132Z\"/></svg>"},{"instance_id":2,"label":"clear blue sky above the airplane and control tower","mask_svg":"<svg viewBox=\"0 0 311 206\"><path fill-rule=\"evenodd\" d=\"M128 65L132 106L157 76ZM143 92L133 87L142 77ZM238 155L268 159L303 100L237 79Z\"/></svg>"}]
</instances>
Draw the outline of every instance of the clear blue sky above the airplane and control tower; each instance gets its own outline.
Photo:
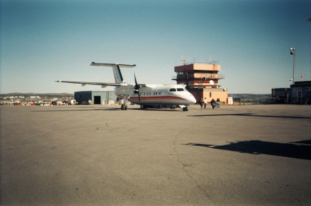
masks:
<instances>
[{"instance_id":1,"label":"clear blue sky above the airplane and control tower","mask_svg":"<svg viewBox=\"0 0 311 206\"><path fill-rule=\"evenodd\" d=\"M1 0L0 93L74 93L114 82L111 68L136 64L126 82L176 84L174 66L219 62L229 93L271 93L310 79L311 1ZM109 88L112 90L113 88ZM105 88L105 90L107 90Z\"/></svg>"}]
</instances>

